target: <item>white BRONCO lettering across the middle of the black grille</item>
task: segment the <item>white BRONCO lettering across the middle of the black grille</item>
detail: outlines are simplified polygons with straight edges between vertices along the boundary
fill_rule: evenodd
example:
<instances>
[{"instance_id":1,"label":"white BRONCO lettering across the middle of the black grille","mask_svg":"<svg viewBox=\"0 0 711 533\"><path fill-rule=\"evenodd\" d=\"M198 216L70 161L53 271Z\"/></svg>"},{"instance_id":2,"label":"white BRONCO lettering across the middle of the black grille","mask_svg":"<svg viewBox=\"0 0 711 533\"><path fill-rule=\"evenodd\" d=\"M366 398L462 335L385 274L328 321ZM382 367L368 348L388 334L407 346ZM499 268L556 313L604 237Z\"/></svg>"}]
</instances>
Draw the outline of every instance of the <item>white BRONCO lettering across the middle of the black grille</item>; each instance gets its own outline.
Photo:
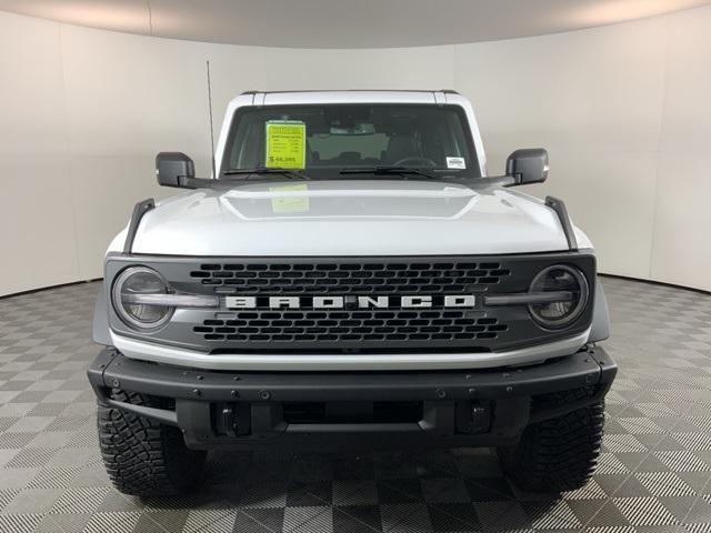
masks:
<instances>
[{"instance_id":1,"label":"white BRONCO lettering across the middle of the black grille","mask_svg":"<svg viewBox=\"0 0 711 533\"><path fill-rule=\"evenodd\" d=\"M418 309L473 308L473 294L413 294L403 296L227 296L228 309Z\"/></svg>"}]
</instances>

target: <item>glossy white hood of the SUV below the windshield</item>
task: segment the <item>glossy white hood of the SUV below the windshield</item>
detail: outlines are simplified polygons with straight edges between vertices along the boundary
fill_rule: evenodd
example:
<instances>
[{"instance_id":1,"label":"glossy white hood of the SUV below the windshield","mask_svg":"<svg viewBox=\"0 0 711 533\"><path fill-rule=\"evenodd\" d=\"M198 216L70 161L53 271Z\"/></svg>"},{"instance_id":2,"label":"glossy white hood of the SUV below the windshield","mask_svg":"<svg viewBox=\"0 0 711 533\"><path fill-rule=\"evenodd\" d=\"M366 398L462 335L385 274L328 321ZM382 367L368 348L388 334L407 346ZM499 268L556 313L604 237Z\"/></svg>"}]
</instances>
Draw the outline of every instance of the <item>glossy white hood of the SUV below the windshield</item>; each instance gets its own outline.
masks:
<instances>
[{"instance_id":1,"label":"glossy white hood of the SUV below the windshield","mask_svg":"<svg viewBox=\"0 0 711 533\"><path fill-rule=\"evenodd\" d=\"M579 245L589 241L581 232ZM133 251L168 255L447 255L567 250L555 213L509 189L427 181L259 182L160 202Z\"/></svg>"}]
</instances>

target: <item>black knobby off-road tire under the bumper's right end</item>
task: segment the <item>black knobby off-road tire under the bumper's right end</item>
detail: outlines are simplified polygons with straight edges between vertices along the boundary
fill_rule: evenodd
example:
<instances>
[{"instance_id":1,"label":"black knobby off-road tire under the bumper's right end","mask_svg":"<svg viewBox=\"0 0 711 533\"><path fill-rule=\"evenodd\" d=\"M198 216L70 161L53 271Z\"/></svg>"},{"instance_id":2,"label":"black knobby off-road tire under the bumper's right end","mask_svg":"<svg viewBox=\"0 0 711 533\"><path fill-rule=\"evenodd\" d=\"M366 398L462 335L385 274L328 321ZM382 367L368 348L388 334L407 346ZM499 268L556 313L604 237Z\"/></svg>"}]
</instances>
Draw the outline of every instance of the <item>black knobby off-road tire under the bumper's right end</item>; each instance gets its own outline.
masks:
<instances>
[{"instance_id":1,"label":"black knobby off-road tire under the bumper's right end","mask_svg":"<svg viewBox=\"0 0 711 533\"><path fill-rule=\"evenodd\" d=\"M580 400L581 394L551 395L545 403L570 403ZM588 483L598 464L603 425L604 402L531 424L518 445L497 450L499 461L509 479L523 491L574 491Z\"/></svg>"}]
</instances>

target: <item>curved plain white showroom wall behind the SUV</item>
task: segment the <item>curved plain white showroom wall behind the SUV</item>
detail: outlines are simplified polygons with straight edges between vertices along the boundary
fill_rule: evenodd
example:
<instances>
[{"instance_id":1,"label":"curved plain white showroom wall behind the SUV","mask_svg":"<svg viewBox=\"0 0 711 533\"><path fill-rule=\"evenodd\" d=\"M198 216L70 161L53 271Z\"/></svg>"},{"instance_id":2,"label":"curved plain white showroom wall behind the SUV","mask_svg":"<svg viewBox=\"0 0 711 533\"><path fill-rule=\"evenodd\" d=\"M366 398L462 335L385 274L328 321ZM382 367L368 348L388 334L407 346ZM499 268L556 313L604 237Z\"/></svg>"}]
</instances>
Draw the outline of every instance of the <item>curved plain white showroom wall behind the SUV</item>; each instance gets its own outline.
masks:
<instances>
[{"instance_id":1,"label":"curved plain white showroom wall behind the SUV","mask_svg":"<svg viewBox=\"0 0 711 533\"><path fill-rule=\"evenodd\" d=\"M146 197L153 158L209 172L250 89L453 88L474 102L491 173L541 145L534 194L565 200L602 272L711 290L711 7L537 38L387 50L299 50L129 36L0 12L0 295L101 276Z\"/></svg>"}]
</instances>

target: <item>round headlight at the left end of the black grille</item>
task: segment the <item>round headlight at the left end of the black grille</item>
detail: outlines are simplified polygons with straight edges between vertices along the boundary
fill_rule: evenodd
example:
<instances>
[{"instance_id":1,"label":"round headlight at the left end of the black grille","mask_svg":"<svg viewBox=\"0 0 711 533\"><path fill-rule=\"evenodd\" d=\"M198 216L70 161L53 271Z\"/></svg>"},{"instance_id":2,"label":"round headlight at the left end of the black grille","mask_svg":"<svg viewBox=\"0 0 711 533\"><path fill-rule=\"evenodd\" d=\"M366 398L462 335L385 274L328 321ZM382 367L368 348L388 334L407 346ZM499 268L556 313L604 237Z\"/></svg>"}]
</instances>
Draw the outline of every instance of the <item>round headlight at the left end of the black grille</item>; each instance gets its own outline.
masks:
<instances>
[{"instance_id":1,"label":"round headlight at the left end of the black grille","mask_svg":"<svg viewBox=\"0 0 711 533\"><path fill-rule=\"evenodd\" d=\"M148 266L130 266L113 282L111 300L119 318L131 328L150 330L164 324L173 308L141 301L144 294L167 294L168 283ZM144 300L144 299L143 299Z\"/></svg>"}]
</instances>

